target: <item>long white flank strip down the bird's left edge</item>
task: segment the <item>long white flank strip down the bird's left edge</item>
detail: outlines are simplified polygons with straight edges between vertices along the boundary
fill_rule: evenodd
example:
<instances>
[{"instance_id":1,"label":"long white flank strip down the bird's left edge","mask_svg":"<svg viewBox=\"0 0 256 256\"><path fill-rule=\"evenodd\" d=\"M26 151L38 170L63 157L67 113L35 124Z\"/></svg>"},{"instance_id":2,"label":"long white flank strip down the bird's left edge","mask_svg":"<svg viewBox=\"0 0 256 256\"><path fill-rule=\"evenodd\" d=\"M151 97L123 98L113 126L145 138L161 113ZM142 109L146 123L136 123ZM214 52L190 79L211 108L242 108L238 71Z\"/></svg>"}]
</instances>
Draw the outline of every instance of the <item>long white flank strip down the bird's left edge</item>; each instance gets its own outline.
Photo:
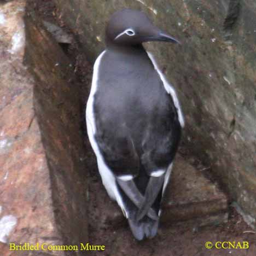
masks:
<instances>
[{"instance_id":1,"label":"long white flank strip down the bird's left edge","mask_svg":"<svg viewBox=\"0 0 256 256\"><path fill-rule=\"evenodd\" d=\"M95 117L94 117L94 95L97 91L98 69L100 67L100 62L104 53L106 53L106 51L103 51L100 54L100 56L97 57L97 60L95 61L95 64L94 64L94 73L92 75L91 91L90 91L90 95L86 105L86 127L87 127L89 141L91 143L92 149L94 150L94 153L97 158L98 171L101 174L102 183L106 188L108 195L112 199L118 202L118 205L121 207L121 210L123 211L124 216L128 218L129 216L125 211L123 200L118 192L115 176L112 173L112 171L110 171L108 166L105 164L103 156L101 155L100 149L98 148L97 142L95 140L96 124L95 124Z\"/></svg>"}]
</instances>

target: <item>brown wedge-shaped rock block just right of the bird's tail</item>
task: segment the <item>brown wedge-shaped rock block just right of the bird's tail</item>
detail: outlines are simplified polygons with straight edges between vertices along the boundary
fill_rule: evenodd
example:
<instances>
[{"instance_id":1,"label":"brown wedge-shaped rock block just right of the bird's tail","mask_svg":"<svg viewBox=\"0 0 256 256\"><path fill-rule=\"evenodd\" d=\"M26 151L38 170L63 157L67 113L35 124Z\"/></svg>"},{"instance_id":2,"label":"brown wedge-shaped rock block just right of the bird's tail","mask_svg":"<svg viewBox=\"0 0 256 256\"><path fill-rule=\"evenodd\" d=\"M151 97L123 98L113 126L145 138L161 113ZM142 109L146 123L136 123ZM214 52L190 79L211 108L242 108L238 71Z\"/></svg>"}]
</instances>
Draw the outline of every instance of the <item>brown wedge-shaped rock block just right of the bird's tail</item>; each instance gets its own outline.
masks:
<instances>
[{"instance_id":1,"label":"brown wedge-shaped rock block just right of the bird's tail","mask_svg":"<svg viewBox=\"0 0 256 256\"><path fill-rule=\"evenodd\" d=\"M193 220L196 226L228 220L226 195L202 172L177 155L163 202L163 222Z\"/></svg>"}]
</instances>

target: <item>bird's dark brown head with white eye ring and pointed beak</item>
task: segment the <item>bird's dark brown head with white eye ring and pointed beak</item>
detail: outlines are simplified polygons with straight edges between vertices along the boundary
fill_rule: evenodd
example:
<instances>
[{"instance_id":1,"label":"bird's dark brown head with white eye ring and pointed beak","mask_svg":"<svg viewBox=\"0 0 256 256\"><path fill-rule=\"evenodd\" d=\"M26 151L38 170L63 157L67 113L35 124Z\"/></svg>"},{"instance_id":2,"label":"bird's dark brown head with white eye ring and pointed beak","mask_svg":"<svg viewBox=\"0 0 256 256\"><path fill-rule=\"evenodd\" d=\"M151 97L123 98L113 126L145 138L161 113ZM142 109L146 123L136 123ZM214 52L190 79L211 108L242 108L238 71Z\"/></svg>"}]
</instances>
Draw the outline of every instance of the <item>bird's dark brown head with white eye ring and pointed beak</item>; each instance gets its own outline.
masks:
<instances>
[{"instance_id":1,"label":"bird's dark brown head with white eye ring and pointed beak","mask_svg":"<svg viewBox=\"0 0 256 256\"><path fill-rule=\"evenodd\" d=\"M118 45L136 45L150 41L178 43L158 27L146 14L138 10L123 9L115 12L106 27L106 42Z\"/></svg>"}]
</instances>

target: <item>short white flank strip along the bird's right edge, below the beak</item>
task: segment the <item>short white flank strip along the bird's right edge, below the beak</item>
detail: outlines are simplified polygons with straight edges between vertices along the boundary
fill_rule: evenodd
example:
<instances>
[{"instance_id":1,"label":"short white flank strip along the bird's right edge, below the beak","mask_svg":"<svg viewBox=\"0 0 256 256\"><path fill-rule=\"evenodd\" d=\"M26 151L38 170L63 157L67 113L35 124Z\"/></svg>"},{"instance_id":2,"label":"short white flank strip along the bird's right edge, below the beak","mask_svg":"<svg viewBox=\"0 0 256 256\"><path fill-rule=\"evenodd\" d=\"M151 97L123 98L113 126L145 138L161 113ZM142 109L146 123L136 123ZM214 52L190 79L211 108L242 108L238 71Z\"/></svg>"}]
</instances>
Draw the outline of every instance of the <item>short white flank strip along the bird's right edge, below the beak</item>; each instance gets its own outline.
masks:
<instances>
[{"instance_id":1,"label":"short white flank strip along the bird's right edge, below the beak","mask_svg":"<svg viewBox=\"0 0 256 256\"><path fill-rule=\"evenodd\" d=\"M176 107L176 109L178 111L179 123L181 124L182 127L184 127L185 121L184 121L184 118L183 118L181 106L179 105L179 100L178 100L178 97L176 95L176 91L171 86L171 84L168 83L165 75L160 71L160 69L158 67L158 64L156 63L153 55L151 53L149 53L148 51L147 51L147 54L148 54L149 59L152 61L155 70L158 72L158 74L159 74L159 76L160 76L160 78L162 80L162 83L165 86L165 90L167 91L168 94L170 94L172 96L173 103L174 103L174 105L175 105L175 107Z\"/></svg>"}]
</instances>

